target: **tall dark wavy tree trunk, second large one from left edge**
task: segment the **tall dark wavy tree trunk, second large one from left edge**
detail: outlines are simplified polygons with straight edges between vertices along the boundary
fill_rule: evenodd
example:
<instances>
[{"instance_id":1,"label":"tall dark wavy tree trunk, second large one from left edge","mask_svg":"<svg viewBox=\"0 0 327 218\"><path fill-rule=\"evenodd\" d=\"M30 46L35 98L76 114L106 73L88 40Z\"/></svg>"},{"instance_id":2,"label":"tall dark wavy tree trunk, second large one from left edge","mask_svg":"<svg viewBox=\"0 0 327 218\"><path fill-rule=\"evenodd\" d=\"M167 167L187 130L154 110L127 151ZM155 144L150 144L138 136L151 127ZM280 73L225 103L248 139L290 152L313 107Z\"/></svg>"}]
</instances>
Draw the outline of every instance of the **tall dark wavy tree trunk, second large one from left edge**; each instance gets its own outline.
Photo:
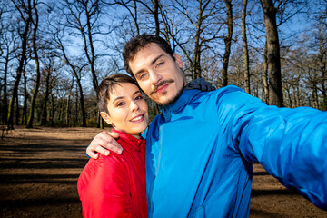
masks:
<instances>
[{"instance_id":1,"label":"tall dark wavy tree trunk, second large one from left edge","mask_svg":"<svg viewBox=\"0 0 327 218\"><path fill-rule=\"evenodd\" d=\"M40 73L40 63L39 63L39 58L38 58L38 54L37 54L37 47L36 47L36 32L37 32L37 28L38 28L38 13L37 13L37 9L36 9L36 5L34 3L33 5L34 9L35 9L35 28L33 31L33 52L35 54L35 65L36 65L36 81L35 81L35 88L33 90L33 94L32 94L32 100L31 100L31 105L30 105L30 113L28 116L28 120L27 120L27 128L32 128L33 127L33 120L34 120L34 114L35 114L35 102L36 102L36 97L38 94L38 89L40 87L40 78L41 78L41 73ZM32 12L30 12L32 13Z\"/></svg>"}]
</instances>

